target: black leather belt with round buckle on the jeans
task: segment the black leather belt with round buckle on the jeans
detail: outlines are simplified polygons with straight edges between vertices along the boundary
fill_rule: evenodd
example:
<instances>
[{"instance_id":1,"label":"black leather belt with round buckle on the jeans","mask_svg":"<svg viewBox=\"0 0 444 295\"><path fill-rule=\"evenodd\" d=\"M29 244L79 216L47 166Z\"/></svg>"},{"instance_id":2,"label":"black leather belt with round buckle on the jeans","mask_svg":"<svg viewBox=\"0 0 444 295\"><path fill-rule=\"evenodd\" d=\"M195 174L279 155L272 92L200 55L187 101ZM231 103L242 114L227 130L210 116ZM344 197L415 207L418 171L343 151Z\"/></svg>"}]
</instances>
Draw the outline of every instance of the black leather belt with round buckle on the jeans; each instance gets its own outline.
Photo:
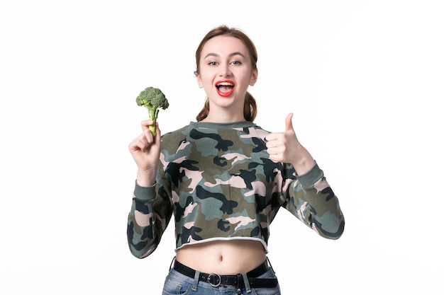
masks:
<instances>
[{"instance_id":1,"label":"black leather belt with round buckle on the jeans","mask_svg":"<svg viewBox=\"0 0 444 295\"><path fill-rule=\"evenodd\" d=\"M174 261L173 269L181 274L186 275L187 277L191 277L194 279L194 275L196 274L196 270L193 270L187 265L182 265L182 263L178 261ZM277 286L277 279L269 278L269 279L258 279L261 274L267 272L267 262L262 263L254 270L247 272L248 283L251 288L274 288ZM207 282L211 284L213 287L218 287L219 285L226 286L235 286L242 287L244 286L242 274L237 275L221 275L221 274L206 274L205 272L201 272L199 274L199 281Z\"/></svg>"}]
</instances>

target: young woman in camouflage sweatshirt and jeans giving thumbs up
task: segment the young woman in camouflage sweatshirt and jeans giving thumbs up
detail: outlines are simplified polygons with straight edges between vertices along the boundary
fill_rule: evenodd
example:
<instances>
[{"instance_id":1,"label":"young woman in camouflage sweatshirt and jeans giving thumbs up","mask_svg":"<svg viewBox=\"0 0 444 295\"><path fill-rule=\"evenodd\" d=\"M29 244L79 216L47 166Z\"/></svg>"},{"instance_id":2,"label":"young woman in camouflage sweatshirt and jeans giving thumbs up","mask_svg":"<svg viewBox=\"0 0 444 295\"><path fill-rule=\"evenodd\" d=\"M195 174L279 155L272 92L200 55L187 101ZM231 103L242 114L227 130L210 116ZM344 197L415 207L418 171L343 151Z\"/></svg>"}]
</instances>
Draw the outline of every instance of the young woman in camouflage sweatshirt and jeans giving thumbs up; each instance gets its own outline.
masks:
<instances>
[{"instance_id":1,"label":"young woman in camouflage sweatshirt and jeans giving thumbs up","mask_svg":"<svg viewBox=\"0 0 444 295\"><path fill-rule=\"evenodd\" d=\"M253 123L257 52L245 33L220 26L196 50L196 78L208 96L196 122L129 145L138 166L128 244L150 255L171 217L176 257L163 294L280 294L267 260L269 226L280 207L318 235L337 239L337 197L292 127L270 133Z\"/></svg>"}]
</instances>

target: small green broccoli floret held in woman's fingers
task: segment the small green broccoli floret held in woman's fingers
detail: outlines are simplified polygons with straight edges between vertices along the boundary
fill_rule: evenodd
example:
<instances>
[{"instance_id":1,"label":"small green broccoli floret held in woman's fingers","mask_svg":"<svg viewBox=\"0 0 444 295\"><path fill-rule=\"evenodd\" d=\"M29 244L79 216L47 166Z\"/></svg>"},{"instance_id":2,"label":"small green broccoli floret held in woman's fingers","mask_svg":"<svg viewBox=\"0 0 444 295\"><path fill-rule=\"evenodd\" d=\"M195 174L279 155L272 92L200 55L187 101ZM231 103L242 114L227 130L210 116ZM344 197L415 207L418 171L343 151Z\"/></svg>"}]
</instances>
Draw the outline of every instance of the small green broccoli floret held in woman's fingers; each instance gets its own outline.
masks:
<instances>
[{"instance_id":1,"label":"small green broccoli floret held in woman's fingers","mask_svg":"<svg viewBox=\"0 0 444 295\"><path fill-rule=\"evenodd\" d=\"M159 88L148 87L144 91L140 92L139 96L135 98L135 102L139 106L144 106L150 113L150 119L154 121L154 124L150 126L150 130L153 136L156 136L156 121L159 109L165 110L170 106L165 94L160 91Z\"/></svg>"}]
</instances>

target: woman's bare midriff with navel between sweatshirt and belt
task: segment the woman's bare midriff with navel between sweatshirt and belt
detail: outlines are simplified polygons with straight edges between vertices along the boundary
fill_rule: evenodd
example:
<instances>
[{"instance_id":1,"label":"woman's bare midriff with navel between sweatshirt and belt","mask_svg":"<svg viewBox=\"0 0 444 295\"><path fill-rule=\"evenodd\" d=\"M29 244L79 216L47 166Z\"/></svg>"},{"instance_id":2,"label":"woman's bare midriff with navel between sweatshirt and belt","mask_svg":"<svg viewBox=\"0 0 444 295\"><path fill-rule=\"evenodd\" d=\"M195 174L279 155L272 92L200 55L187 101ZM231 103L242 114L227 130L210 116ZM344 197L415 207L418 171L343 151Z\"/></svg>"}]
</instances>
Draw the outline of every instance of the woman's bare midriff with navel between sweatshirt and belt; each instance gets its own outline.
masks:
<instances>
[{"instance_id":1,"label":"woman's bare midriff with navel between sweatshirt and belt","mask_svg":"<svg viewBox=\"0 0 444 295\"><path fill-rule=\"evenodd\" d=\"M176 260L199 272L239 274L255 269L266 259L259 241L211 241L186 245L177 250Z\"/></svg>"}]
</instances>

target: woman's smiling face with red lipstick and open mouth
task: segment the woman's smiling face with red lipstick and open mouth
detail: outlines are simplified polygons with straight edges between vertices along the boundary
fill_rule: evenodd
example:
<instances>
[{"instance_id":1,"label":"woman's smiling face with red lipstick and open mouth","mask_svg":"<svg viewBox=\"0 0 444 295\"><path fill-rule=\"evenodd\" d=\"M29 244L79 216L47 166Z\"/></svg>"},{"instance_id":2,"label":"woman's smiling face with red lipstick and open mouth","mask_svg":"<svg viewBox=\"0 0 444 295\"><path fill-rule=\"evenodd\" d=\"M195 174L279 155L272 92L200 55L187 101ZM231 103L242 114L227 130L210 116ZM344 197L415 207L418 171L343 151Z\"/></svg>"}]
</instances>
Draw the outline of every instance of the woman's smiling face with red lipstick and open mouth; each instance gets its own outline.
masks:
<instances>
[{"instance_id":1,"label":"woman's smiling face with red lipstick and open mouth","mask_svg":"<svg viewBox=\"0 0 444 295\"><path fill-rule=\"evenodd\" d=\"M199 61L197 82L210 100L210 110L240 111L248 86L257 79L247 47L236 37L217 36L204 45Z\"/></svg>"}]
</instances>

